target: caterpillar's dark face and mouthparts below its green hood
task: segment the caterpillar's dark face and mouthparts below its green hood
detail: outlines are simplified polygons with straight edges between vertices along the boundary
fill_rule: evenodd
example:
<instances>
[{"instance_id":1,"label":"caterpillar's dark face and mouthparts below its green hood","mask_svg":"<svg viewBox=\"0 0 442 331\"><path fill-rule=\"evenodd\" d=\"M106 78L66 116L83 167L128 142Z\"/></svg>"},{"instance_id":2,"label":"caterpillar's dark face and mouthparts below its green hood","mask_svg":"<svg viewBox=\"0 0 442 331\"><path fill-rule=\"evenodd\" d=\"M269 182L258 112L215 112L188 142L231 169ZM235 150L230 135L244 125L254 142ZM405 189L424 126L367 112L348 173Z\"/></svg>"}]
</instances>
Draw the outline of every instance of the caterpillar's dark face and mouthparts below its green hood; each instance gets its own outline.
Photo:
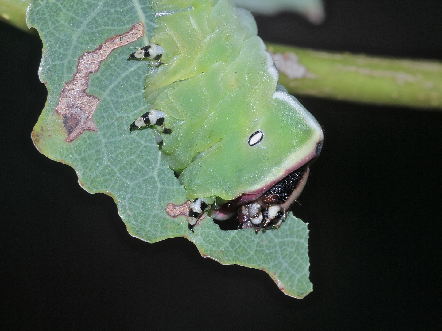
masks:
<instances>
[{"instance_id":1,"label":"caterpillar's dark face and mouthparts below its green hood","mask_svg":"<svg viewBox=\"0 0 442 331\"><path fill-rule=\"evenodd\" d=\"M219 221L237 217L240 229L255 228L256 232L278 228L290 205L301 194L308 176L307 164L287 175L258 199L239 206L234 201L217 205L211 216Z\"/></svg>"}]
</instances>

